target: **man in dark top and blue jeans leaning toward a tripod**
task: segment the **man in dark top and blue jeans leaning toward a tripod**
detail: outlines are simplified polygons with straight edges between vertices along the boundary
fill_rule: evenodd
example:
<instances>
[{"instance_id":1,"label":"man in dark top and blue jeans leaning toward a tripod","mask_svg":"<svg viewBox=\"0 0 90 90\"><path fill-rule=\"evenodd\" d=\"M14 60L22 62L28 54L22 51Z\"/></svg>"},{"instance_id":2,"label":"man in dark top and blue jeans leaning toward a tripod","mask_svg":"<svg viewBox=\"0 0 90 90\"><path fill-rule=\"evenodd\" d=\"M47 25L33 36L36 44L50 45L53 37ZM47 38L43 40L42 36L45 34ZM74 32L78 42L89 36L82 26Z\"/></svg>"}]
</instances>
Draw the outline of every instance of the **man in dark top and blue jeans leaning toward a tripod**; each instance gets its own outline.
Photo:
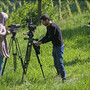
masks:
<instances>
[{"instance_id":1,"label":"man in dark top and blue jeans leaning toward a tripod","mask_svg":"<svg viewBox=\"0 0 90 90\"><path fill-rule=\"evenodd\" d=\"M54 65L57 70L57 74L61 75L62 81L66 81L66 73L63 65L63 53L64 53L64 43L62 38L62 33L58 25L53 23L47 14L41 16L41 23L47 27L46 36L40 41L35 42L36 46L52 41L53 44L53 57Z\"/></svg>"}]
</instances>

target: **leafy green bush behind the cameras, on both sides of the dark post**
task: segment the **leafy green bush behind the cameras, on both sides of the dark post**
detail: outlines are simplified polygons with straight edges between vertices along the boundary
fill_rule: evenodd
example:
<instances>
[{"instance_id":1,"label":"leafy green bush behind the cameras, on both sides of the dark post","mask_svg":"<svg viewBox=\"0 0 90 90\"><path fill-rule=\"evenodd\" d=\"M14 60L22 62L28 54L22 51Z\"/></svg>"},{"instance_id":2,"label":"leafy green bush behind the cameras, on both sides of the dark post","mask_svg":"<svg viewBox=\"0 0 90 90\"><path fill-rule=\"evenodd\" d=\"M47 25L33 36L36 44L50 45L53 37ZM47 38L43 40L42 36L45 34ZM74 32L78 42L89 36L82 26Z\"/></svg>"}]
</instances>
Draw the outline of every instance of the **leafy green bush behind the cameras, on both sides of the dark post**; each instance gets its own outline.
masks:
<instances>
[{"instance_id":1,"label":"leafy green bush behind the cameras, on both sides of the dark post","mask_svg":"<svg viewBox=\"0 0 90 90\"><path fill-rule=\"evenodd\" d=\"M51 1L42 1L42 14L47 13L51 18L54 16L54 8L51 6ZM38 24L38 1L25 2L17 10L13 11L9 17L8 24L19 23L22 27L26 26L26 19L32 17L33 23Z\"/></svg>"}]
</instances>

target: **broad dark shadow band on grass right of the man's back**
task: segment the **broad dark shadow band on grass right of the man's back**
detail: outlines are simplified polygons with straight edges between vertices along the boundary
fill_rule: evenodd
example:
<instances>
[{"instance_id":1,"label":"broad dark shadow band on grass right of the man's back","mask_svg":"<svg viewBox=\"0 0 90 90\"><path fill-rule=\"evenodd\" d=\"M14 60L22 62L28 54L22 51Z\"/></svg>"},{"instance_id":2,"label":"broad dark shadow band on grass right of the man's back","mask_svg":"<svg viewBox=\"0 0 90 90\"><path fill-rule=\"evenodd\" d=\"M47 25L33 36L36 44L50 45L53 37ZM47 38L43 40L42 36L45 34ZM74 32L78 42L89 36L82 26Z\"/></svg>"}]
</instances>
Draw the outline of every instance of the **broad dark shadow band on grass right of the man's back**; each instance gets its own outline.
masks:
<instances>
[{"instance_id":1,"label":"broad dark shadow band on grass right of the man's back","mask_svg":"<svg viewBox=\"0 0 90 90\"><path fill-rule=\"evenodd\" d=\"M63 39L72 40L74 37L81 36L88 36L90 35L90 27L83 26L83 27L76 27L74 29L64 29L62 30Z\"/></svg>"}]
</instances>

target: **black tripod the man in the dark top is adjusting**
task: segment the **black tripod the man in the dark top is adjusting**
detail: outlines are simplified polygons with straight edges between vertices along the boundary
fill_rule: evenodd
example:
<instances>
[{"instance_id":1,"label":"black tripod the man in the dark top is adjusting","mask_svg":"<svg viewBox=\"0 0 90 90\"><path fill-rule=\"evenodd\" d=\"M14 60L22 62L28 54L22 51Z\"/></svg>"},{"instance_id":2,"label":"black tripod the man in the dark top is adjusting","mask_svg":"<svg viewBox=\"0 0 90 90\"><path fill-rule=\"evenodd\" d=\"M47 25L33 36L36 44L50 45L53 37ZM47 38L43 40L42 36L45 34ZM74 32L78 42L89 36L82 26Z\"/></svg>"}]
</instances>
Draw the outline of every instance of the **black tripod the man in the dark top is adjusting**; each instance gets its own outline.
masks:
<instances>
[{"instance_id":1,"label":"black tripod the man in the dark top is adjusting","mask_svg":"<svg viewBox=\"0 0 90 90\"><path fill-rule=\"evenodd\" d=\"M41 65L41 62L40 62L40 59L39 59L39 56L38 56L38 54L40 54L40 53L39 53L39 50L38 50L40 47L37 47L37 46L35 46L35 45L33 44L33 41L34 41L34 40L37 41L37 39L33 39L33 38L31 38L30 36L29 36L29 38L25 38L25 40L27 40L27 39L28 39L29 41L28 41L28 44L27 44L27 51L26 51L26 56L25 56L25 61L24 61L24 71L23 71L23 75L22 75L22 80L23 80L23 78L24 78L24 74L27 73L27 68L28 68L29 61L30 61L32 46L34 47L34 50L35 50L35 53L36 53L36 56L37 56L37 59L38 59L38 63L40 64L40 67L41 67L41 71L42 71L43 77L45 78L44 72L43 72L43 69L42 69L42 65Z\"/></svg>"}]
</instances>

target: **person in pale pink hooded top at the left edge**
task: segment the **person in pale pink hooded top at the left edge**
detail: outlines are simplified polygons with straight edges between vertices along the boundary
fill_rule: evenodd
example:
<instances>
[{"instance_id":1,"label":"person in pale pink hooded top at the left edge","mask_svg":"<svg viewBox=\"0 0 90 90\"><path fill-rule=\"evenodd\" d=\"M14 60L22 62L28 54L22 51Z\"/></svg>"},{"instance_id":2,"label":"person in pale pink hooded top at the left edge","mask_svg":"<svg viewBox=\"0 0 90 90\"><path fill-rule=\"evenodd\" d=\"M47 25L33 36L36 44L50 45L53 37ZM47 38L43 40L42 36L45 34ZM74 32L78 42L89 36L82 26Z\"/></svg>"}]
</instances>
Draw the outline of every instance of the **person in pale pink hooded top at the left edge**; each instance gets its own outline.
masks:
<instances>
[{"instance_id":1,"label":"person in pale pink hooded top at the left edge","mask_svg":"<svg viewBox=\"0 0 90 90\"><path fill-rule=\"evenodd\" d=\"M6 35L10 33L10 31L6 31L5 25L8 19L8 15L4 12L0 13L0 75L2 73L2 64L4 61L4 57L9 57L9 49L7 45Z\"/></svg>"}]
</instances>

